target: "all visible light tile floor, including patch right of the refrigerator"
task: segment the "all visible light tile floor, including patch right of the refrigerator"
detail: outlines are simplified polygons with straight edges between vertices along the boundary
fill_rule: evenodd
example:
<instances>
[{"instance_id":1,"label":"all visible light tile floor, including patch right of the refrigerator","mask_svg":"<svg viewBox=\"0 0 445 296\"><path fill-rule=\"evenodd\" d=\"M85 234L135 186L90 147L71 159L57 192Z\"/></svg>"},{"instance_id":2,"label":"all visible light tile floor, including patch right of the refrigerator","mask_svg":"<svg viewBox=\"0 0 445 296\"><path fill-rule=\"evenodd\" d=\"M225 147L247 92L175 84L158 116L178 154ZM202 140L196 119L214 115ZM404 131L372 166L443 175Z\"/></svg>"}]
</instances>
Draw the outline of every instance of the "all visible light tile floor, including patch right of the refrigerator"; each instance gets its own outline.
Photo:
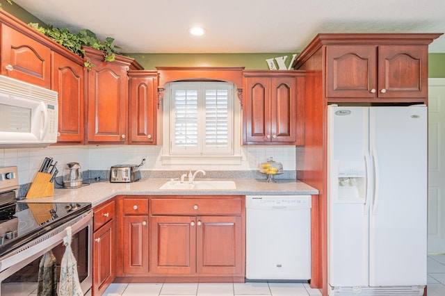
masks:
<instances>
[{"instance_id":1,"label":"all visible light tile floor, including patch right of the refrigerator","mask_svg":"<svg viewBox=\"0 0 445 296\"><path fill-rule=\"evenodd\" d=\"M104 296L312 296L307 283L112 283ZM428 296L445 295L445 254L428 256Z\"/></svg>"}]
</instances>

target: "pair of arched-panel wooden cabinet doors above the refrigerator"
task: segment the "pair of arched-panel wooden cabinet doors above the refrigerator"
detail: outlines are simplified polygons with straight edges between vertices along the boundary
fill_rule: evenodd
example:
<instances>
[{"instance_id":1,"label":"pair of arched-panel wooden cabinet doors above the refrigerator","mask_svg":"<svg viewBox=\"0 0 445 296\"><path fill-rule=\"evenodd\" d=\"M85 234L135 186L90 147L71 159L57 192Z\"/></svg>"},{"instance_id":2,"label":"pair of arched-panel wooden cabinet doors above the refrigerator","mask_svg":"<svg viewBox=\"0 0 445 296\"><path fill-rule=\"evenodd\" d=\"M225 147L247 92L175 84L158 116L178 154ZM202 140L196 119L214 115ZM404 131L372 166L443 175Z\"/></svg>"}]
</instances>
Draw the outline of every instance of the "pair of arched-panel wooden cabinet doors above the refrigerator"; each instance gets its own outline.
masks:
<instances>
[{"instance_id":1,"label":"pair of arched-panel wooden cabinet doors above the refrigerator","mask_svg":"<svg viewBox=\"0 0 445 296\"><path fill-rule=\"evenodd\" d=\"M330 45L326 97L426 98L428 45Z\"/></svg>"}]
</instances>

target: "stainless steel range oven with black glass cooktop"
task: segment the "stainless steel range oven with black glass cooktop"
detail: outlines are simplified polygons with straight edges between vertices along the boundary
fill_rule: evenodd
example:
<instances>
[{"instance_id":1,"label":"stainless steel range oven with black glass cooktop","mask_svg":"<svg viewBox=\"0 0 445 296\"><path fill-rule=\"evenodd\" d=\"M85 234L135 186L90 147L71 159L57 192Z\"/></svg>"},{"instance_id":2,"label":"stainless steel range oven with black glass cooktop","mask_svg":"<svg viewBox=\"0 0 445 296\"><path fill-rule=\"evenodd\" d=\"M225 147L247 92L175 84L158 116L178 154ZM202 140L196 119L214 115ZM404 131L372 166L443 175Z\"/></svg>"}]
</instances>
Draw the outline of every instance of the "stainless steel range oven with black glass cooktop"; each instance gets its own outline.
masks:
<instances>
[{"instance_id":1,"label":"stainless steel range oven with black glass cooktop","mask_svg":"<svg viewBox=\"0 0 445 296\"><path fill-rule=\"evenodd\" d=\"M81 289L87 293L92 286L91 204L11 203L15 190L1 191L2 179L6 179L2 170L0 168L0 295L42 295L38 293L42 286L58 285L67 227L72 230L71 248ZM2 178L2 174L5 177ZM15 174L17 176L17 172ZM45 274L48 270L52 277Z\"/></svg>"}]
</instances>

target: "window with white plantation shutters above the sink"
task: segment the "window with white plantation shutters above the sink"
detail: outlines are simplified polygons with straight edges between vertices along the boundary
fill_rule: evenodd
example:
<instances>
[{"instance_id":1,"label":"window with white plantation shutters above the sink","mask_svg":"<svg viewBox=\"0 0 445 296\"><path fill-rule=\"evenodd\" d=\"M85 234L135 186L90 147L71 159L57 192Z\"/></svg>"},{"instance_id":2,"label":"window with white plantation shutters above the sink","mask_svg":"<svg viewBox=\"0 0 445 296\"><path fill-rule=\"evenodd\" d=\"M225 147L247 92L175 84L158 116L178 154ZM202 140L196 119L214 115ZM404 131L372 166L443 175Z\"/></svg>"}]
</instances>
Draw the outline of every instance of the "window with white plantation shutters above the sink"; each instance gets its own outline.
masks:
<instances>
[{"instance_id":1,"label":"window with white plantation shutters above the sink","mask_svg":"<svg viewBox=\"0 0 445 296\"><path fill-rule=\"evenodd\" d=\"M233 154L232 83L171 83L170 154Z\"/></svg>"}]
</instances>

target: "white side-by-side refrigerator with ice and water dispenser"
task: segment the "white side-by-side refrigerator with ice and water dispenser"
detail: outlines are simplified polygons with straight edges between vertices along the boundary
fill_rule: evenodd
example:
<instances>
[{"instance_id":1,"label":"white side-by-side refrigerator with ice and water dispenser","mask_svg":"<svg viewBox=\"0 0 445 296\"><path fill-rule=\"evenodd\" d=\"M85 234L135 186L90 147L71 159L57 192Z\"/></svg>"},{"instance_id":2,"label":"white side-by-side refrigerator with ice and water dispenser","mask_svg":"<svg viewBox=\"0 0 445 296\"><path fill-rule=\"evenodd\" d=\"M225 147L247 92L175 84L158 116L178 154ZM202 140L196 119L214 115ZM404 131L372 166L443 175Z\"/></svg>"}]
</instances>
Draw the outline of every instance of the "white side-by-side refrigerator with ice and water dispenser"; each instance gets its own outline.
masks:
<instances>
[{"instance_id":1,"label":"white side-by-side refrigerator with ice and water dispenser","mask_svg":"<svg viewBox=\"0 0 445 296\"><path fill-rule=\"evenodd\" d=\"M423 295L427 107L328 106L328 295Z\"/></svg>"}]
</instances>

